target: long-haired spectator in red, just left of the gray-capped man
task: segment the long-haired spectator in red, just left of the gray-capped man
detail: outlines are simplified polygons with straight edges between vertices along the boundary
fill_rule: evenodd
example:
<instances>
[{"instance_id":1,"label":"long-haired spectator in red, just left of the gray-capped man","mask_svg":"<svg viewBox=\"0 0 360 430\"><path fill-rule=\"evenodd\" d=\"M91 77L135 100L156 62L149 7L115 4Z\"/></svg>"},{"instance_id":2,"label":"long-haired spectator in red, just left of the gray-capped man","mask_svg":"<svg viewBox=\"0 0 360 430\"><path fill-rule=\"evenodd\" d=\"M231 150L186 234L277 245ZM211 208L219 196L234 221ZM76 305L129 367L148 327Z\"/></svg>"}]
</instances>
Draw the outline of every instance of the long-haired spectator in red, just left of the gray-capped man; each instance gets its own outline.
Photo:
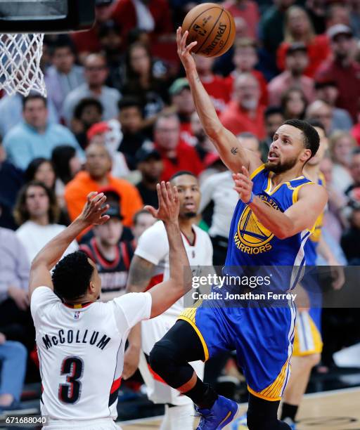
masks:
<instances>
[{"instance_id":1,"label":"long-haired spectator in red, just left of the gray-capped man","mask_svg":"<svg viewBox=\"0 0 360 430\"><path fill-rule=\"evenodd\" d=\"M304 70L308 77L314 77L319 65L330 53L328 38L325 34L315 35L309 16L299 6L292 6L286 12L285 39L277 52L277 63L280 70L285 68L286 51L290 44L303 43L307 46L309 63Z\"/></svg>"}]
</instances>

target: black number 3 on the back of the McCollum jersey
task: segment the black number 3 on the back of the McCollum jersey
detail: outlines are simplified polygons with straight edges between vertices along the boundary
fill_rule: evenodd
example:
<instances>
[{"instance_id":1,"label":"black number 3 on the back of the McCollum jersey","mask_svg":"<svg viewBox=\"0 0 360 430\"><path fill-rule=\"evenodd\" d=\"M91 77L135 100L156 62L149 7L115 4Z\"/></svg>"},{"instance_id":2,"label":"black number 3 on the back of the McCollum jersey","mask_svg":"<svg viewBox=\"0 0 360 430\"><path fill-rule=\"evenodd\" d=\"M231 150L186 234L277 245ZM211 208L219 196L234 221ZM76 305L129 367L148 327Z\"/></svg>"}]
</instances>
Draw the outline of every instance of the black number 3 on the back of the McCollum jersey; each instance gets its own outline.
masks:
<instances>
[{"instance_id":1,"label":"black number 3 on the back of the McCollum jersey","mask_svg":"<svg viewBox=\"0 0 360 430\"><path fill-rule=\"evenodd\" d=\"M79 357L66 357L61 364L60 374L66 374L66 384L59 385L59 399L63 403L76 403L82 391L79 379L84 371L84 362Z\"/></svg>"}]
</instances>

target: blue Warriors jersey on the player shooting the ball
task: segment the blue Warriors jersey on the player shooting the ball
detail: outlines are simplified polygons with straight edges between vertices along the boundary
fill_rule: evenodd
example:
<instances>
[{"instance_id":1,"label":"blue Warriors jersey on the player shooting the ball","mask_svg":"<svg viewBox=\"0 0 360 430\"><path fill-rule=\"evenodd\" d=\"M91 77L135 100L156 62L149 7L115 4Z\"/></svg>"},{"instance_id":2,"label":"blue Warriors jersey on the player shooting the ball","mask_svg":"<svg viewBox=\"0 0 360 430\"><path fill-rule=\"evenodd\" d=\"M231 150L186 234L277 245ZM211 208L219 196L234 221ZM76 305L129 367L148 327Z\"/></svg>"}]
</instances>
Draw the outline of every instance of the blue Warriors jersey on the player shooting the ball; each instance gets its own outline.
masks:
<instances>
[{"instance_id":1,"label":"blue Warriors jersey on the player shooting the ball","mask_svg":"<svg viewBox=\"0 0 360 430\"><path fill-rule=\"evenodd\" d=\"M271 189L272 176L274 174L265 169L264 164L260 166L251 175L252 191L263 202L282 212L297 202L303 185L312 183L300 176ZM241 266L278 266L269 272L275 275L276 289L288 291L300 278L305 263L304 245L309 235L309 230L303 230L292 237L278 239L259 222L250 207L239 200L231 221L224 275L238 275L236 267Z\"/></svg>"}]
</instances>

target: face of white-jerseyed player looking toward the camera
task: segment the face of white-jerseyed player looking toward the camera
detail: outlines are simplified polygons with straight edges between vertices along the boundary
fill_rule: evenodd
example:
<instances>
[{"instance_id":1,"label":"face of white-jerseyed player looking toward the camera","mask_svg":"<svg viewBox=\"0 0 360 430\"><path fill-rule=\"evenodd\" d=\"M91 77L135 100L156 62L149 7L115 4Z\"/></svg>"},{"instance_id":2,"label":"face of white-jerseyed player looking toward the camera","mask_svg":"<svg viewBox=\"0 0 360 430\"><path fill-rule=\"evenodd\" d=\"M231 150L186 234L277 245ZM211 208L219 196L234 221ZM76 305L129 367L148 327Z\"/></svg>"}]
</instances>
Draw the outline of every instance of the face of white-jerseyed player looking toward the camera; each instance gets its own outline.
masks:
<instances>
[{"instance_id":1,"label":"face of white-jerseyed player looking toward the camera","mask_svg":"<svg viewBox=\"0 0 360 430\"><path fill-rule=\"evenodd\" d=\"M193 218L198 214L200 204L200 188L198 179L191 175L177 176L172 180L179 191L181 218Z\"/></svg>"}]
</instances>

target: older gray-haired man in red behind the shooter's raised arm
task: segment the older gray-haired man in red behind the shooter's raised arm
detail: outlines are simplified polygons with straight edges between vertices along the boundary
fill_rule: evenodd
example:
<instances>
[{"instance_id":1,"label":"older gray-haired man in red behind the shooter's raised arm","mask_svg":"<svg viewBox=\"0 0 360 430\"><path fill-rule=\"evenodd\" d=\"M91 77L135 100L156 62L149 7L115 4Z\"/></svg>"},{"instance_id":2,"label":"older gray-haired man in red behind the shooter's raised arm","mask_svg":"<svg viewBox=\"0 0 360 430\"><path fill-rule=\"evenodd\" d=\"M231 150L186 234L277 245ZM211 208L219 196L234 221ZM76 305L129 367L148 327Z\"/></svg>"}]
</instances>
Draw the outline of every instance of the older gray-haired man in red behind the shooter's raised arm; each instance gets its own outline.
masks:
<instances>
[{"instance_id":1,"label":"older gray-haired man in red behind the shooter's raised arm","mask_svg":"<svg viewBox=\"0 0 360 430\"><path fill-rule=\"evenodd\" d=\"M265 137L264 106L259 104L260 89L257 79L250 73L236 78L233 99L220 115L222 124L234 134L249 131Z\"/></svg>"}]
</instances>

